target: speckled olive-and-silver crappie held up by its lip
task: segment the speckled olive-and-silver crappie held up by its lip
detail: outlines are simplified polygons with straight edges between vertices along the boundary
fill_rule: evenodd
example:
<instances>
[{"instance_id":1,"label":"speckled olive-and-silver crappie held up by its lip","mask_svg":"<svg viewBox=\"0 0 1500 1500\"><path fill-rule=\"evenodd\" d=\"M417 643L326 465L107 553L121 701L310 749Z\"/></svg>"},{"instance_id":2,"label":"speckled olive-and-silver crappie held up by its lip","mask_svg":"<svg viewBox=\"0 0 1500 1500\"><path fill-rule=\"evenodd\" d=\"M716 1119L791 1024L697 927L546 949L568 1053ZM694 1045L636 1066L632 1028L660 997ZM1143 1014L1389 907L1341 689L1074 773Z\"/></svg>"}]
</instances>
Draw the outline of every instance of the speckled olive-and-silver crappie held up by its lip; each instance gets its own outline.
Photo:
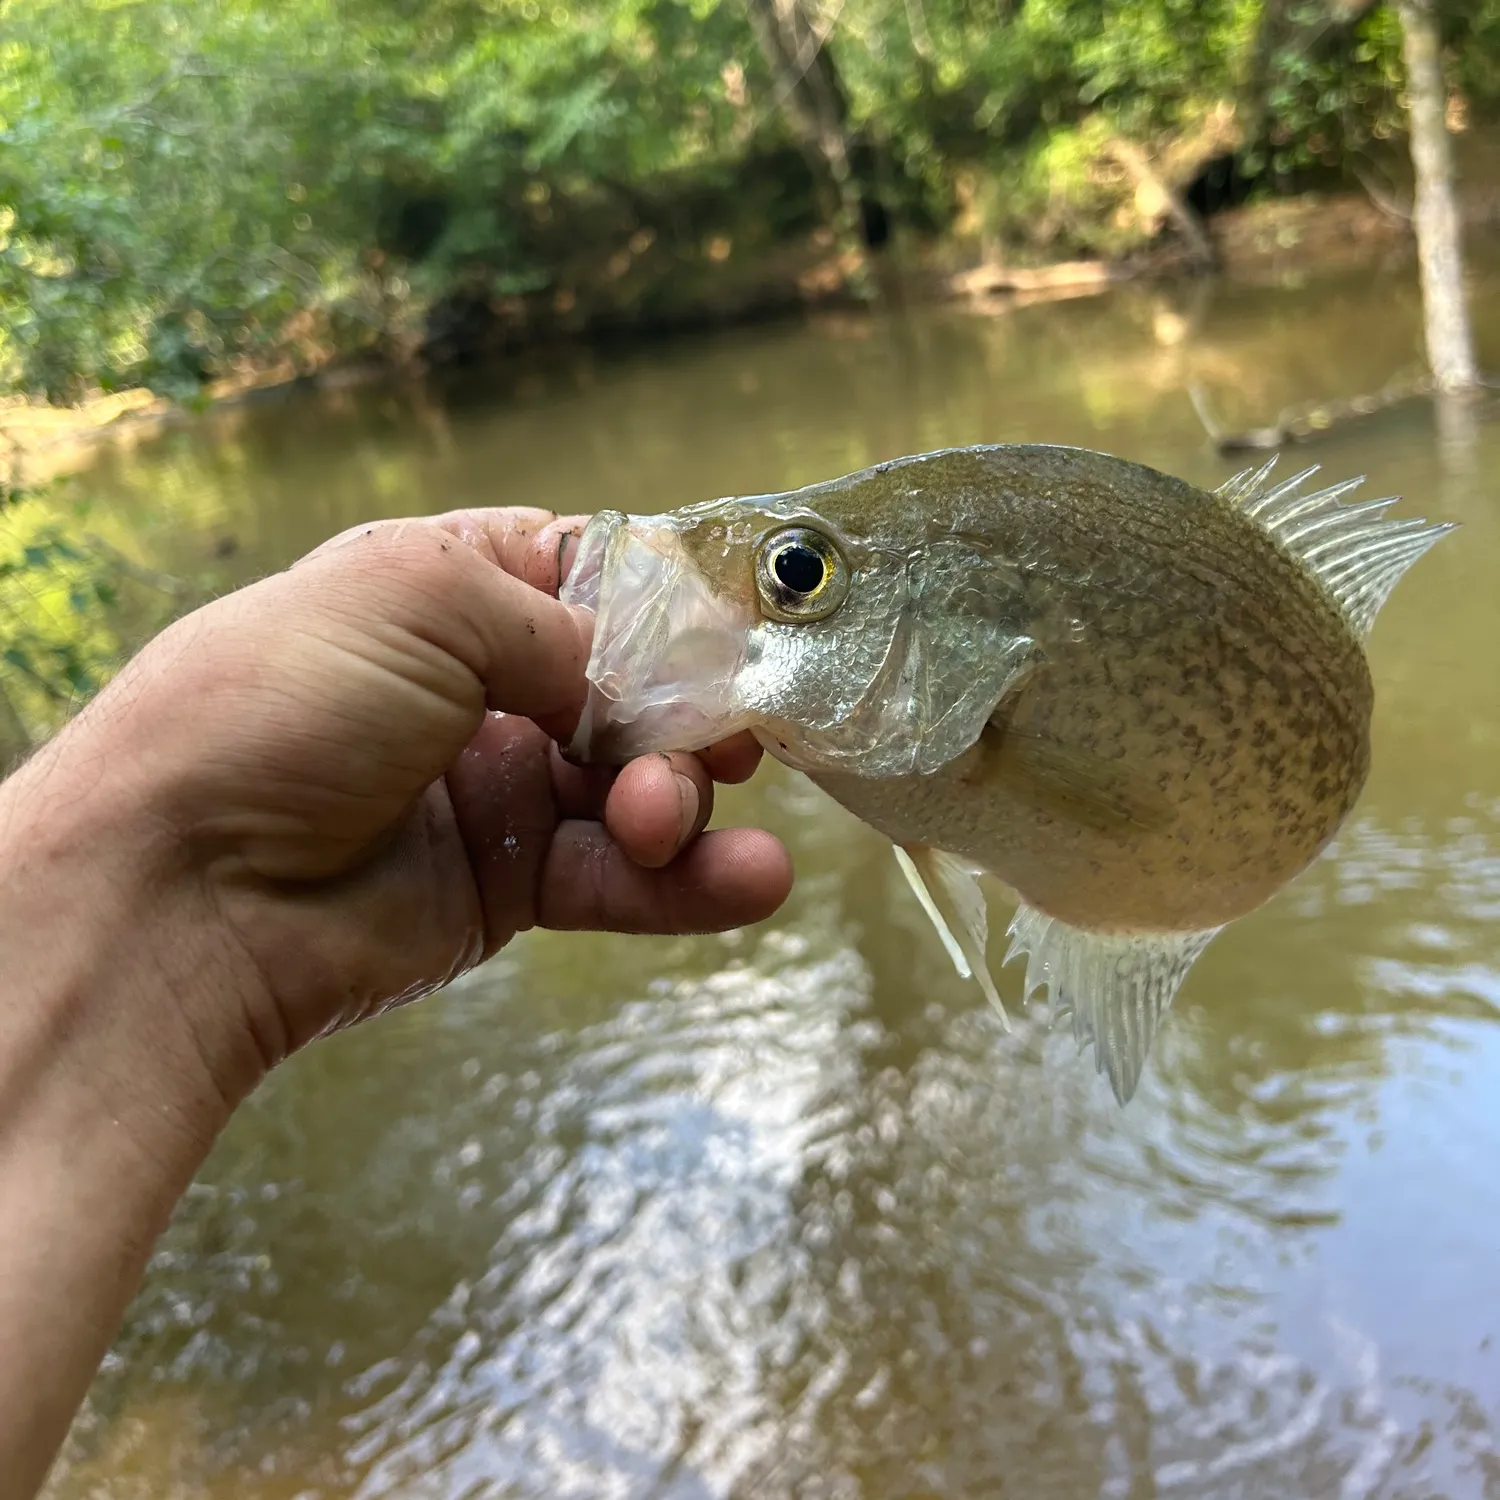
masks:
<instances>
[{"instance_id":1,"label":"speckled olive-and-silver crappie held up by its lip","mask_svg":"<svg viewBox=\"0 0 1500 1500\"><path fill-rule=\"evenodd\" d=\"M1124 1107L1188 970L1332 842L1371 762L1365 644L1446 522L1352 478L1214 490L1080 447L990 444L654 516L603 510L567 754L750 730L891 840L1002 1026L981 878Z\"/></svg>"}]
</instances>

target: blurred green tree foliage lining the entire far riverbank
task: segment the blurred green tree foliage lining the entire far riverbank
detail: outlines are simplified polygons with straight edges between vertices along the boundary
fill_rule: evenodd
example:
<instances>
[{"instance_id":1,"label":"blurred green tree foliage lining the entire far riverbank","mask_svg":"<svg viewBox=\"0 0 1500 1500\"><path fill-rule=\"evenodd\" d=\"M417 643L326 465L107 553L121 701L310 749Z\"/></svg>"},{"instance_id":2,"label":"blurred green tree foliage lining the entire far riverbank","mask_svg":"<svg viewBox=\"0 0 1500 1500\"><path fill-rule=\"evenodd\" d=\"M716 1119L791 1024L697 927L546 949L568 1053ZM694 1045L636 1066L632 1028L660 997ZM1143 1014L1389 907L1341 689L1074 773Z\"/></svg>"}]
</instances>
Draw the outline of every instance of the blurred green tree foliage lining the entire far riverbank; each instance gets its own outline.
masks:
<instances>
[{"instance_id":1,"label":"blurred green tree foliage lining the entire far riverbank","mask_svg":"<svg viewBox=\"0 0 1500 1500\"><path fill-rule=\"evenodd\" d=\"M434 309L668 304L720 273L708 240L760 255L826 213L784 166L801 138L752 3L10 0L0 380L190 399L273 357L410 345ZM1172 150L1233 110L1242 170L1288 183L1404 123L1386 4L802 3L909 224L952 222L978 174L993 231L1114 252L1155 228L1112 134ZM1484 112L1500 0L1443 18Z\"/></svg>"}]
</instances>

